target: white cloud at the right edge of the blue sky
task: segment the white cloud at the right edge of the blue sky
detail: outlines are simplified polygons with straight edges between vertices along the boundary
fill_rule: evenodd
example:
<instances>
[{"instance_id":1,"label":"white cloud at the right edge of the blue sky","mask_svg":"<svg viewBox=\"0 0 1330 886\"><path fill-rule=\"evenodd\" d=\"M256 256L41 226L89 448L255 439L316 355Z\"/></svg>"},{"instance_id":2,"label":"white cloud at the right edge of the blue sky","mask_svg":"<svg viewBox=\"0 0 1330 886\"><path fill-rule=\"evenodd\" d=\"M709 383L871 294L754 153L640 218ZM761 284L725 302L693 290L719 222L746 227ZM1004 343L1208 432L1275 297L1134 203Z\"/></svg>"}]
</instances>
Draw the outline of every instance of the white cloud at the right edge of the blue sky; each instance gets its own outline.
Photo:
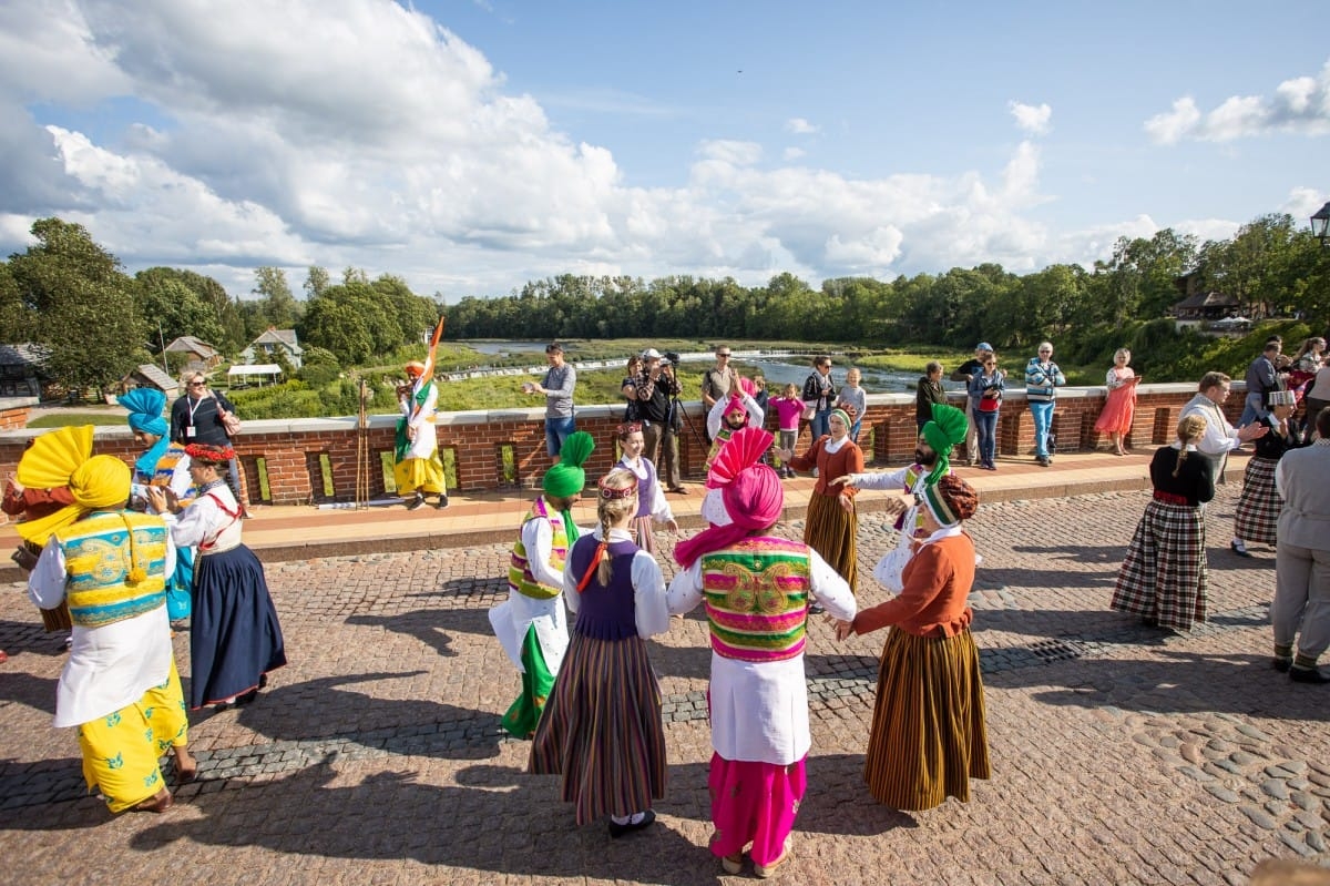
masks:
<instances>
[{"instance_id":1,"label":"white cloud at the right edge of the blue sky","mask_svg":"<svg viewBox=\"0 0 1330 886\"><path fill-rule=\"evenodd\" d=\"M1330 133L1330 61L1315 77L1285 80L1267 97L1232 96L1209 113L1190 96L1177 98L1172 110L1145 121L1145 132L1161 145L1232 141L1270 132L1323 136Z\"/></svg>"}]
</instances>

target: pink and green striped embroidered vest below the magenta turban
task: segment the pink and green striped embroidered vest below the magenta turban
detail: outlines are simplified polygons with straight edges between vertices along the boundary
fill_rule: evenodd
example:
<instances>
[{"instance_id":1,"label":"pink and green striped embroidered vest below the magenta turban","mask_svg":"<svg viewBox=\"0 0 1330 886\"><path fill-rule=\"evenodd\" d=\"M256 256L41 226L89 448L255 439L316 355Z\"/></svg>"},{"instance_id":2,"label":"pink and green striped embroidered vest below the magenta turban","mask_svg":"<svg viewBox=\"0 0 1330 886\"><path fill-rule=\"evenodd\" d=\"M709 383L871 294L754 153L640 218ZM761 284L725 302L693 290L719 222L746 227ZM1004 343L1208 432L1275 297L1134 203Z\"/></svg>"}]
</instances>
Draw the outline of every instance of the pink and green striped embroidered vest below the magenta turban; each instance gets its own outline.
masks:
<instances>
[{"instance_id":1,"label":"pink and green striped embroidered vest below the magenta turban","mask_svg":"<svg viewBox=\"0 0 1330 886\"><path fill-rule=\"evenodd\" d=\"M712 649L738 661L785 661L803 652L809 547L749 537L702 556Z\"/></svg>"}]
</instances>

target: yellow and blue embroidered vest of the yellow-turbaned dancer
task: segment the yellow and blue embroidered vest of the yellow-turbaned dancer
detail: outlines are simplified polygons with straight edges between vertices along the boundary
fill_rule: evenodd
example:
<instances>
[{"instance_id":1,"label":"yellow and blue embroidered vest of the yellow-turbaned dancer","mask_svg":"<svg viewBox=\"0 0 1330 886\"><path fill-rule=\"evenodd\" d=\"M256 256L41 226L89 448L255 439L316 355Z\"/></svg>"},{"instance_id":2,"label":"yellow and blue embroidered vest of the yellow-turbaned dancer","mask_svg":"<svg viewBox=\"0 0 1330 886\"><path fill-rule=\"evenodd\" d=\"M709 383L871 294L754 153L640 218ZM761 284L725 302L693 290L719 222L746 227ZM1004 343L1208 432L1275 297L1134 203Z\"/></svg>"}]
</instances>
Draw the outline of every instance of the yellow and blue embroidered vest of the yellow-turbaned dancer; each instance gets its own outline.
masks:
<instances>
[{"instance_id":1,"label":"yellow and blue embroidered vest of the yellow-turbaned dancer","mask_svg":"<svg viewBox=\"0 0 1330 886\"><path fill-rule=\"evenodd\" d=\"M128 525L126 525L128 521ZM148 577L129 584L129 527ZM55 533L69 573L69 616L101 628L152 612L166 603L166 524L158 516L98 511Z\"/></svg>"}]
</instances>

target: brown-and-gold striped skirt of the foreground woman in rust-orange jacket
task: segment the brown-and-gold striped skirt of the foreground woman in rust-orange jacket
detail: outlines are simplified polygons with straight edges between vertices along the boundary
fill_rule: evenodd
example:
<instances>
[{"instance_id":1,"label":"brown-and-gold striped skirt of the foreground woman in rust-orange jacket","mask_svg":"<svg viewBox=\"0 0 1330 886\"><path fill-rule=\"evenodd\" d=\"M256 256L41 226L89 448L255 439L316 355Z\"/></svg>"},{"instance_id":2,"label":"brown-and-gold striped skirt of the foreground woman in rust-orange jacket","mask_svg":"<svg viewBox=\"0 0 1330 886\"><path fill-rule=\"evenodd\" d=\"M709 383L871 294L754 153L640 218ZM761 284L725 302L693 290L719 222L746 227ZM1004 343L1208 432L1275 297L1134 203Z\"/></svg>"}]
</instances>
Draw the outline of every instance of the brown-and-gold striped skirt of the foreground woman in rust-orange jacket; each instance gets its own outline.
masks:
<instances>
[{"instance_id":1,"label":"brown-and-gold striped skirt of the foreground woman in rust-orange jacket","mask_svg":"<svg viewBox=\"0 0 1330 886\"><path fill-rule=\"evenodd\" d=\"M878 669L863 780L878 802L923 810L970 802L988 778L988 728L979 649L970 631L919 637L891 628Z\"/></svg>"}]
</instances>

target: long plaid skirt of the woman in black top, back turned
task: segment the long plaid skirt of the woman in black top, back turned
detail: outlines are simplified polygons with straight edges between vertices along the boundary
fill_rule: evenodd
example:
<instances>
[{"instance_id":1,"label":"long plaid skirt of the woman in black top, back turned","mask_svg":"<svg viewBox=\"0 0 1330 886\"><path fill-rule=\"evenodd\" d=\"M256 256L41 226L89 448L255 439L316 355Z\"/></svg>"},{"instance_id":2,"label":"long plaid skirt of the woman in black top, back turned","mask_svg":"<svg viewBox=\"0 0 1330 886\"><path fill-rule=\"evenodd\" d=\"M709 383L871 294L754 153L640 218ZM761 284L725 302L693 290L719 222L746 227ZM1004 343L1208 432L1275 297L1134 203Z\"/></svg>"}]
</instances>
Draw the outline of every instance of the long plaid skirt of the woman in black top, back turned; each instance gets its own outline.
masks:
<instances>
[{"instance_id":1,"label":"long plaid skirt of the woman in black top, back turned","mask_svg":"<svg viewBox=\"0 0 1330 886\"><path fill-rule=\"evenodd\" d=\"M1206 584L1204 508L1152 499L1127 545L1109 605L1190 631L1205 621Z\"/></svg>"}]
</instances>

